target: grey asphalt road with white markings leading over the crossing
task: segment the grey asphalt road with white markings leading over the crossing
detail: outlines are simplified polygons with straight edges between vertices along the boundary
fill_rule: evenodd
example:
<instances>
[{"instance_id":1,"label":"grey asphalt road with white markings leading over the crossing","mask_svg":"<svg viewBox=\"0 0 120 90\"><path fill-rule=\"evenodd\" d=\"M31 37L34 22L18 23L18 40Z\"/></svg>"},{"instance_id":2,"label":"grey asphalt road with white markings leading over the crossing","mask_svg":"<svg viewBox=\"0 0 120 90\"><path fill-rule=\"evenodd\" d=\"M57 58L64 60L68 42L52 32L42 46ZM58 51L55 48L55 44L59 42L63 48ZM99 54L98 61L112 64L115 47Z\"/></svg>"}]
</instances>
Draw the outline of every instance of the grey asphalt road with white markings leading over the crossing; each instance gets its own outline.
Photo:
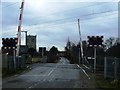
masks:
<instances>
[{"instance_id":1,"label":"grey asphalt road with white markings leading over the crossing","mask_svg":"<svg viewBox=\"0 0 120 90\"><path fill-rule=\"evenodd\" d=\"M64 59L64 58L61 58ZM3 79L6 88L94 88L92 78L77 64L39 63L20 75Z\"/></svg>"}]
</instances>

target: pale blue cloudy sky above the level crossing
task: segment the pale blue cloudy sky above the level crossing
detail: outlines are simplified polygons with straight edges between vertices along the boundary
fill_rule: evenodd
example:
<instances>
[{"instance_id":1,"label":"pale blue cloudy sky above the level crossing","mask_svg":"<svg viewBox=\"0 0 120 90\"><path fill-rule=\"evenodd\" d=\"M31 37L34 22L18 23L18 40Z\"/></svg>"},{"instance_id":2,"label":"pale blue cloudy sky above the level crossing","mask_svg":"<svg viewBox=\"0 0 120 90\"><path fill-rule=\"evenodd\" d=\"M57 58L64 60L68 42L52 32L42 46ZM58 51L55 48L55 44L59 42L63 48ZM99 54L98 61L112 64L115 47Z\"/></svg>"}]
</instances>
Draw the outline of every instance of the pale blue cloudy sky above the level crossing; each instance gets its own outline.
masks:
<instances>
[{"instance_id":1,"label":"pale blue cloudy sky above the level crossing","mask_svg":"<svg viewBox=\"0 0 120 90\"><path fill-rule=\"evenodd\" d=\"M2 0L1 38L17 37L22 0ZM86 2L85 2L86 1ZM104 0L25 0L22 31L37 35L38 47L53 45L64 50L68 38L79 42L78 22L82 40L87 36L118 37L118 2ZM25 33L21 33L22 45Z\"/></svg>"}]
</instances>

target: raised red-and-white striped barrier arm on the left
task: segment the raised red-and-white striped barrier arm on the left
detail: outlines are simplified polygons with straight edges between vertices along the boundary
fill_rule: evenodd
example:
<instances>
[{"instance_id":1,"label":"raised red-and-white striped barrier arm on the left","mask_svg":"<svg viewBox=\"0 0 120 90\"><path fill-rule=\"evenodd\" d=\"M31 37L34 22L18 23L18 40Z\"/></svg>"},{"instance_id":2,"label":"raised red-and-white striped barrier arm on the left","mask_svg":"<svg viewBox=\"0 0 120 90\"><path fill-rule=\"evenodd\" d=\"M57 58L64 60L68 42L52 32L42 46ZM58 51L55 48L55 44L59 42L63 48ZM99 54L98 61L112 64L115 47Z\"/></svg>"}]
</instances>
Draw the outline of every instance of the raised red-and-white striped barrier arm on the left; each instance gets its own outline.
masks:
<instances>
[{"instance_id":1,"label":"raised red-and-white striped barrier arm on the left","mask_svg":"<svg viewBox=\"0 0 120 90\"><path fill-rule=\"evenodd\" d=\"M16 52L17 57L19 57L19 50L21 45L21 25L22 25L23 9L24 9L24 0L22 0L20 7L20 16L19 16L19 25L18 25L18 34L17 34L17 52Z\"/></svg>"}]
</instances>

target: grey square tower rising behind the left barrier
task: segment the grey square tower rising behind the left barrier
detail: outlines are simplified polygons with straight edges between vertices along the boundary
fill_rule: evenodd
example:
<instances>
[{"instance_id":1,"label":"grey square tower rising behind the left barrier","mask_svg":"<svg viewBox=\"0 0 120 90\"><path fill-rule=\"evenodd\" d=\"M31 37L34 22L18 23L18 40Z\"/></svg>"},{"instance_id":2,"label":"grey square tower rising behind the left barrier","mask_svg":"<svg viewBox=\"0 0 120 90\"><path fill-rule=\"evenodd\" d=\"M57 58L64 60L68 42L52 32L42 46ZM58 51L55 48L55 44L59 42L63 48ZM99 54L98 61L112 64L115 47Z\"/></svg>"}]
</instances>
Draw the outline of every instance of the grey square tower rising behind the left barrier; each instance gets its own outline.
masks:
<instances>
[{"instance_id":1,"label":"grey square tower rising behind the left barrier","mask_svg":"<svg viewBox=\"0 0 120 90\"><path fill-rule=\"evenodd\" d=\"M28 48L36 49L36 35L28 35L27 36L27 46Z\"/></svg>"}]
</instances>

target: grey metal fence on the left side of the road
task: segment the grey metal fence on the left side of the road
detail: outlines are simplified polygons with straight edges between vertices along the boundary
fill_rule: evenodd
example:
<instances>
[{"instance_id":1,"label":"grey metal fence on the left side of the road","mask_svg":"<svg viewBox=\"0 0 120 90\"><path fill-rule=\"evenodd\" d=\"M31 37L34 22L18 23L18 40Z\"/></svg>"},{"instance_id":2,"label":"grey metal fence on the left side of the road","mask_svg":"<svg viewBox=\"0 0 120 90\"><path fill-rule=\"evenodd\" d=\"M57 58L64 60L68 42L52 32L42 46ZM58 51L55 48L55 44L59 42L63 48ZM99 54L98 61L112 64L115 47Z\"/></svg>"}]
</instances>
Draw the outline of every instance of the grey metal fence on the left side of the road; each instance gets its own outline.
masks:
<instances>
[{"instance_id":1,"label":"grey metal fence on the left side of the road","mask_svg":"<svg viewBox=\"0 0 120 90\"><path fill-rule=\"evenodd\" d=\"M12 55L2 54L2 73L15 72L16 69L25 67L25 56L14 59Z\"/></svg>"}]
</instances>

